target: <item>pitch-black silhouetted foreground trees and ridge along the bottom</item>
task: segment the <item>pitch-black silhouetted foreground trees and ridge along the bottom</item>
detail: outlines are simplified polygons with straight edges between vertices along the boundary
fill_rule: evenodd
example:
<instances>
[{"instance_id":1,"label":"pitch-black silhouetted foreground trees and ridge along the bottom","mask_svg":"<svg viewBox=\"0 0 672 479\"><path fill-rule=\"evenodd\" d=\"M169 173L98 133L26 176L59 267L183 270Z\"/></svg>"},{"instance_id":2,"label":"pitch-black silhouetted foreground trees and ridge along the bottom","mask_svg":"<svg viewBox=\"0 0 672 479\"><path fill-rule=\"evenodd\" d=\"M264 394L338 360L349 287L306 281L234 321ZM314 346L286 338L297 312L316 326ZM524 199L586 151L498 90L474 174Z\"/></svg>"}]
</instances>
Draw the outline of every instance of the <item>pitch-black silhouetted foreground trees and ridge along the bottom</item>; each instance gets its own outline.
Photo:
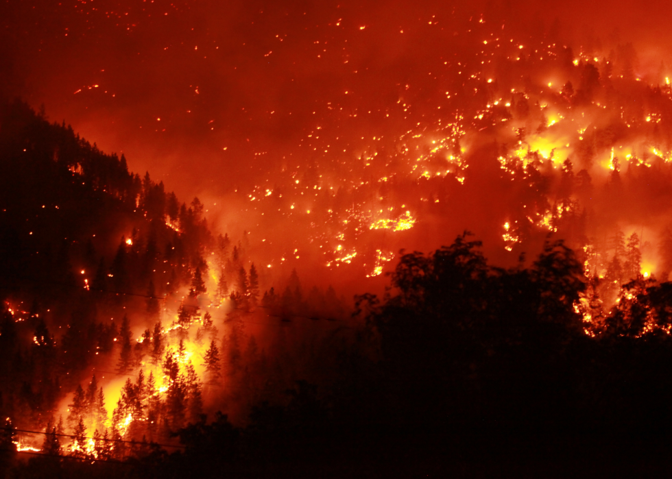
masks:
<instances>
[{"instance_id":1,"label":"pitch-black silhouetted foreground trees and ridge along the bottom","mask_svg":"<svg viewBox=\"0 0 672 479\"><path fill-rule=\"evenodd\" d=\"M479 243L403 256L393 295L364 295L367 326L326 386L190 424L184 450L123 463L36 457L15 477L588 477L669 470L669 283L640 281L596 337L562 243L529 269L489 267ZM666 294L667 293L667 294ZM657 332L639 329L656 317ZM7 442L5 438L5 447ZM10 452L5 452L10 458ZM93 462L93 461L92 461Z\"/></svg>"}]
</instances>

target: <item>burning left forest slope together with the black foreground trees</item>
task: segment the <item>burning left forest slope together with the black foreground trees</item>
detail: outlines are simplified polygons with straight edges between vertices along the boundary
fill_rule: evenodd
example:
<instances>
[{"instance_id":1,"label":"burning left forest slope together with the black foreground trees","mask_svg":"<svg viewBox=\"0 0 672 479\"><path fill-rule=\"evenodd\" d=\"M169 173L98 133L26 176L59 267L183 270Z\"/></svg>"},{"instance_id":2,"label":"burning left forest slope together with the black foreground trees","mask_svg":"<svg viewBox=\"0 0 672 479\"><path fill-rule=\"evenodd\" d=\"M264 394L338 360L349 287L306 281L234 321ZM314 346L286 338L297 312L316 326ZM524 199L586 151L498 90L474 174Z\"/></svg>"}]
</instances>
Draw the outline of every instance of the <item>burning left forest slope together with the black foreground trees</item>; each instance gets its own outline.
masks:
<instances>
[{"instance_id":1,"label":"burning left forest slope together with the black foreground trees","mask_svg":"<svg viewBox=\"0 0 672 479\"><path fill-rule=\"evenodd\" d=\"M387 293L350 314L296 272L282 294L262 284L245 238L213 233L198 199L21 101L0 107L0 168L5 476L669 470L672 283L637 275L604 311L620 265L588 278L549 240L502 269L465 233L400 256ZM337 327L280 326L261 345L245 332L260 311Z\"/></svg>"}]
</instances>

